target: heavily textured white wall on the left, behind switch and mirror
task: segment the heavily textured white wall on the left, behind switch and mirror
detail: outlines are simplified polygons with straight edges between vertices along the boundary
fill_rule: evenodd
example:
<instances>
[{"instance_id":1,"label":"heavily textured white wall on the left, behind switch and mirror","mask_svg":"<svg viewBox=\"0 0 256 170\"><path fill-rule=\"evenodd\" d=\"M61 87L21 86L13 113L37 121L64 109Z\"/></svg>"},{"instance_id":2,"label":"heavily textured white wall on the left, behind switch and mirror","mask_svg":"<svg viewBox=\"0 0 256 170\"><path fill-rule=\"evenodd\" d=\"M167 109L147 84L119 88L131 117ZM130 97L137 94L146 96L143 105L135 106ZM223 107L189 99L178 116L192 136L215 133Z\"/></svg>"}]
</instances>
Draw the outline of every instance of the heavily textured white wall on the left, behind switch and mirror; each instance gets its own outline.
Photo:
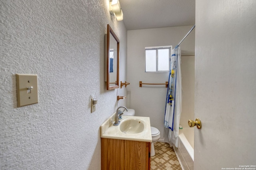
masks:
<instances>
[{"instance_id":1,"label":"heavily textured white wall on the left, behind switch and mirror","mask_svg":"<svg viewBox=\"0 0 256 170\"><path fill-rule=\"evenodd\" d=\"M123 21L110 16L108 0L0 3L0 169L100 170L99 127L126 95L106 90L104 34L110 24L120 39L125 81ZM17 108L16 73L38 75L38 104Z\"/></svg>"}]
</instances>

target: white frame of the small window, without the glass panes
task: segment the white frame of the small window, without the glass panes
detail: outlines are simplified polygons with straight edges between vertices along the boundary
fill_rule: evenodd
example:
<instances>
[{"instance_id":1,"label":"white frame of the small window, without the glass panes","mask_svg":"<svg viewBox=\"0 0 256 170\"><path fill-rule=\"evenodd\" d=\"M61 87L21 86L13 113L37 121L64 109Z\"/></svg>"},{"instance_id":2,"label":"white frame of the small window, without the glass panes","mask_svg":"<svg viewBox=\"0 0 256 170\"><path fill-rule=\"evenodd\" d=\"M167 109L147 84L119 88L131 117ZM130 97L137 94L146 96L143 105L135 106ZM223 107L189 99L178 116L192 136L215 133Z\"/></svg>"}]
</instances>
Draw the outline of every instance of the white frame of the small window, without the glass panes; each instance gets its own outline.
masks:
<instances>
[{"instance_id":1,"label":"white frame of the small window, without the glass panes","mask_svg":"<svg viewBox=\"0 0 256 170\"><path fill-rule=\"evenodd\" d=\"M172 45L158 46L158 47L145 47L145 72L169 72L170 71L170 70L158 71L158 49L169 49L169 68L170 68ZM156 50L156 71L146 71L146 50Z\"/></svg>"}]
</instances>

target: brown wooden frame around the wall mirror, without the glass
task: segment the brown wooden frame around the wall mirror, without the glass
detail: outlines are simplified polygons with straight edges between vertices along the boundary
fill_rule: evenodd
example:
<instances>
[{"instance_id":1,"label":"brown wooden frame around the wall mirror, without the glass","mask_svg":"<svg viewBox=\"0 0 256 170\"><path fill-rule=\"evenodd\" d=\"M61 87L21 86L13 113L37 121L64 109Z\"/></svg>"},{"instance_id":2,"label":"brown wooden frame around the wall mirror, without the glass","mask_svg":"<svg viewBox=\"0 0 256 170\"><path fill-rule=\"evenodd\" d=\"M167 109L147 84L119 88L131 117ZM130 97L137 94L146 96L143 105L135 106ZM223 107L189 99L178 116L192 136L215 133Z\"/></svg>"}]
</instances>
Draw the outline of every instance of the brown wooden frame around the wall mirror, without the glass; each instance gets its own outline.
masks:
<instances>
[{"instance_id":1,"label":"brown wooden frame around the wall mirror, without the glass","mask_svg":"<svg viewBox=\"0 0 256 170\"><path fill-rule=\"evenodd\" d=\"M110 59L109 59L109 53L110 53L110 34L114 37L114 39L116 40L116 45L117 45L117 62L116 62L116 82L114 82L115 85L111 85L113 84L113 82L110 82ZM106 43L106 51L105 51L105 71L106 71L106 75L105 75L105 81L107 82L107 90L112 90L115 88L119 88L119 39L116 36L116 34L114 33L113 29L110 27L110 25L108 24L107 26L107 38L105 39L105 43Z\"/></svg>"}]
</instances>

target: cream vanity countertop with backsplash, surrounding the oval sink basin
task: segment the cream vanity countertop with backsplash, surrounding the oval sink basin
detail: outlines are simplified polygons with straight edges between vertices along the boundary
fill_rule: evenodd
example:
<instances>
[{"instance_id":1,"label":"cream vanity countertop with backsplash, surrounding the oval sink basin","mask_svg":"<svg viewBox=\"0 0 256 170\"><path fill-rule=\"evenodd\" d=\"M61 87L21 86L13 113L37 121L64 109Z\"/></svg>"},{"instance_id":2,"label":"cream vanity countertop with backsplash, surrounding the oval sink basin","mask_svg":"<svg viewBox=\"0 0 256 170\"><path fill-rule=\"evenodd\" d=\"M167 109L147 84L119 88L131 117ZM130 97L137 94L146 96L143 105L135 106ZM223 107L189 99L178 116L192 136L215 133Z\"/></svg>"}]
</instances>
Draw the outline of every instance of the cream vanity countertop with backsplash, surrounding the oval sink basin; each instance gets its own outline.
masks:
<instances>
[{"instance_id":1,"label":"cream vanity countertop with backsplash, surrounding the oval sink basin","mask_svg":"<svg viewBox=\"0 0 256 170\"><path fill-rule=\"evenodd\" d=\"M114 126L115 123L115 113L113 113L102 125L100 126L100 137L109 139L122 139L128 141L142 141L142 142L152 142L151 128L150 128L150 118L140 117L140 116L124 116L119 119L120 123L118 126ZM140 119L144 121L145 127L141 133L127 134L120 130L120 124L125 119Z\"/></svg>"}]
</instances>

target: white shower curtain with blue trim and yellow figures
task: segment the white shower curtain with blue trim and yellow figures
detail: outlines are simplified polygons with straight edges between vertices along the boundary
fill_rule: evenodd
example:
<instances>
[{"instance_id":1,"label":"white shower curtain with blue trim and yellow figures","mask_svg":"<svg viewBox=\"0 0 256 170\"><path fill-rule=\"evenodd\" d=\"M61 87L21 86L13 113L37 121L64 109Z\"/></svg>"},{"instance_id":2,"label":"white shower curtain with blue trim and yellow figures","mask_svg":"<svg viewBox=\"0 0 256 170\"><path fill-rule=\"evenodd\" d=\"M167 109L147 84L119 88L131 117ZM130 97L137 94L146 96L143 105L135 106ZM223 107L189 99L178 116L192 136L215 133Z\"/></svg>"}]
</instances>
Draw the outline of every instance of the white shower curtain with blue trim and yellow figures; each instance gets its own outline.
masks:
<instances>
[{"instance_id":1,"label":"white shower curtain with blue trim and yellow figures","mask_svg":"<svg viewBox=\"0 0 256 170\"><path fill-rule=\"evenodd\" d=\"M178 135L182 102L180 47L172 49L171 66L164 115L164 141L178 147Z\"/></svg>"}]
</instances>

